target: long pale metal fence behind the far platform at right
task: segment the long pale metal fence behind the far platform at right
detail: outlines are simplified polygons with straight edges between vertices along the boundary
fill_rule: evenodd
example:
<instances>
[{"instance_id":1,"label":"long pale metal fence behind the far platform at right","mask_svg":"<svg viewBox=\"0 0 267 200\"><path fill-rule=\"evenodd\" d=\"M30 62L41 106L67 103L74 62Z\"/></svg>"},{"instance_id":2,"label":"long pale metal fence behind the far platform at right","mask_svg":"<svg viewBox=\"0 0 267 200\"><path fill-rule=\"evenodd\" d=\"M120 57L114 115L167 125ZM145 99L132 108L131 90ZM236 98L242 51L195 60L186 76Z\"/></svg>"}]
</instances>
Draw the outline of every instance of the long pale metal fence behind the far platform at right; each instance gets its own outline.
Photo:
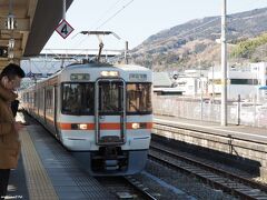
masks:
<instances>
[{"instance_id":1,"label":"long pale metal fence behind the far platform at right","mask_svg":"<svg viewBox=\"0 0 267 200\"><path fill-rule=\"evenodd\" d=\"M220 101L175 96L154 96L154 113L220 122ZM227 102L227 122L267 128L267 104Z\"/></svg>"}]
</instances>

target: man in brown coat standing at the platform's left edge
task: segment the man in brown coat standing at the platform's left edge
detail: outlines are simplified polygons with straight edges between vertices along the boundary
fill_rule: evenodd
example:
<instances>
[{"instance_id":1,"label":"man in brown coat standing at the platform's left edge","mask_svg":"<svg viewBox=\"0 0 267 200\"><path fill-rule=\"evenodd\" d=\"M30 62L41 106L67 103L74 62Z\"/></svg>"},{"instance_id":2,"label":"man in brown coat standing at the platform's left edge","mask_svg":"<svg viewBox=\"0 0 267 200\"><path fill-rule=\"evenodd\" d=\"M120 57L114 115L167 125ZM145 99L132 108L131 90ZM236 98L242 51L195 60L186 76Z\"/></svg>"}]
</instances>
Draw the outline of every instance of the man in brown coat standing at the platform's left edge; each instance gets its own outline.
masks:
<instances>
[{"instance_id":1,"label":"man in brown coat standing at the platform's left edge","mask_svg":"<svg viewBox=\"0 0 267 200\"><path fill-rule=\"evenodd\" d=\"M0 73L0 199L7 194L10 169L17 168L20 154L19 130L23 126L16 122L11 102L17 98L13 91L23 77L23 70L14 63Z\"/></svg>"}]
</instances>

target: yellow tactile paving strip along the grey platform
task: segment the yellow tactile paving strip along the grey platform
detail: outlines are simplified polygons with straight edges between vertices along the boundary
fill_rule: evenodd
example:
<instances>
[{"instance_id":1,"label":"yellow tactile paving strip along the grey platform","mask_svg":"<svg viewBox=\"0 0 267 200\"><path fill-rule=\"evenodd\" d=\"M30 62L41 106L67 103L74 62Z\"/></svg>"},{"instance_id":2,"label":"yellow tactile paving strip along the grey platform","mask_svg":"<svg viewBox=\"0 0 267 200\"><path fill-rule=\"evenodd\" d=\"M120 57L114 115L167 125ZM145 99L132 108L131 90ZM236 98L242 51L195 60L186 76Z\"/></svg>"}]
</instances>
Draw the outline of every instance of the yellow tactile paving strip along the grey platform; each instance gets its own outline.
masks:
<instances>
[{"instance_id":1,"label":"yellow tactile paving strip along the grey platform","mask_svg":"<svg viewBox=\"0 0 267 200\"><path fill-rule=\"evenodd\" d=\"M46 169L36 151L34 144L24 128L20 132L21 153L26 170L27 187L30 200L58 200Z\"/></svg>"}]
</instances>

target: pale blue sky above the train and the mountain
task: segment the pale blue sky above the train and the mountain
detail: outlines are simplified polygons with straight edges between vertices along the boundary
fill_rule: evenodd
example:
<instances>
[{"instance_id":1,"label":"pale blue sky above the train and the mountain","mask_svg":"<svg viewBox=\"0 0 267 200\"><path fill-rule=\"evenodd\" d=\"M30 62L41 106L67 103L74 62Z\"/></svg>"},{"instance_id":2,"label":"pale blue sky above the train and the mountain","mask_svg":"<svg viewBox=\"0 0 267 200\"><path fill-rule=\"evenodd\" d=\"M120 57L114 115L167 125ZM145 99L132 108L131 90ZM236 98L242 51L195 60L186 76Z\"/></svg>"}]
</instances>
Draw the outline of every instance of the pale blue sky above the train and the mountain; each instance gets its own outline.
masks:
<instances>
[{"instance_id":1,"label":"pale blue sky above the train and the mountain","mask_svg":"<svg viewBox=\"0 0 267 200\"><path fill-rule=\"evenodd\" d=\"M98 28L113 31L122 38L105 37L106 49L123 49L125 40L129 41L129 48L132 49L161 30L192 19L220 16L221 4L222 0L73 0L67 12L67 21L75 31L67 39L55 31L44 48L97 48L98 39L95 36L77 33ZM264 7L267 7L266 0L227 0L227 13Z\"/></svg>"}]
</instances>

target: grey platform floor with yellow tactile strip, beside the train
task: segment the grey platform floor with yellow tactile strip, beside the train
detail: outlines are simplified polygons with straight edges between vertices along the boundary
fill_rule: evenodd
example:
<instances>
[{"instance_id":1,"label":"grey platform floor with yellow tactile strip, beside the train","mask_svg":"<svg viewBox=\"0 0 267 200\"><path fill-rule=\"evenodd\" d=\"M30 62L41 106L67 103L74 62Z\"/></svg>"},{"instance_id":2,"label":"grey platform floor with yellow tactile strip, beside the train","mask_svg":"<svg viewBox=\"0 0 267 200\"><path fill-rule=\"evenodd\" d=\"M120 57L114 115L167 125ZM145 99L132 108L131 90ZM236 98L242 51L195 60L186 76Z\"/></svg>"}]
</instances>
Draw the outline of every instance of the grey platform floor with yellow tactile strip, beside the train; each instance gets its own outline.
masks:
<instances>
[{"instance_id":1,"label":"grey platform floor with yellow tactile strip, beside the train","mask_svg":"<svg viewBox=\"0 0 267 200\"><path fill-rule=\"evenodd\" d=\"M21 112L18 121L24 121ZM11 171L7 199L116 199L34 121L21 132L22 151Z\"/></svg>"}]
</instances>

